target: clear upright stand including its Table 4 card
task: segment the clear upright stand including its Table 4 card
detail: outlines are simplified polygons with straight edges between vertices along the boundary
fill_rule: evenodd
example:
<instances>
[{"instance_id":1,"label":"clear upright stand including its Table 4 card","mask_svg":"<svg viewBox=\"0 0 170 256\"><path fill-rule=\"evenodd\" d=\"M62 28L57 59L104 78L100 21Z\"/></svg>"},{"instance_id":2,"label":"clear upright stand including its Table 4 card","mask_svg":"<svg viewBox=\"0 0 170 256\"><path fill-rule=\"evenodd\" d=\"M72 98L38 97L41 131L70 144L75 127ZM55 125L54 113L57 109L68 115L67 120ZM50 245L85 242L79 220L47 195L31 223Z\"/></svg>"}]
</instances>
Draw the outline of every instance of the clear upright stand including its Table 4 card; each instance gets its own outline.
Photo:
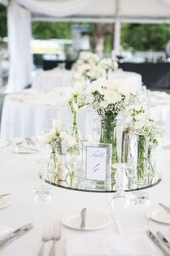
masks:
<instances>
[{"instance_id":1,"label":"clear upright stand including its Table 4 card","mask_svg":"<svg viewBox=\"0 0 170 256\"><path fill-rule=\"evenodd\" d=\"M82 148L84 189L109 190L112 145L91 143Z\"/></svg>"}]
</instances>

